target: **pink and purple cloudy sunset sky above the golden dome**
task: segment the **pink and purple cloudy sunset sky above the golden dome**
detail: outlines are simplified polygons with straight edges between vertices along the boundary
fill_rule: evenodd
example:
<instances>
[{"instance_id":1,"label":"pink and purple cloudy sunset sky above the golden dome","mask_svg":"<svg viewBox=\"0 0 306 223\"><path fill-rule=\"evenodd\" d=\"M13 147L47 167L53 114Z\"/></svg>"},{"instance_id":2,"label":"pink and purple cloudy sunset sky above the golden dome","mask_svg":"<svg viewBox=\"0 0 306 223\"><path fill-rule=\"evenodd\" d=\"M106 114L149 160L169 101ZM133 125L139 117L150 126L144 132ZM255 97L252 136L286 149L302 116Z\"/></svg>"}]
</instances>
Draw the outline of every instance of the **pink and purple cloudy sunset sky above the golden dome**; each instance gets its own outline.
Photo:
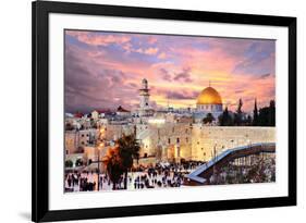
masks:
<instances>
[{"instance_id":1,"label":"pink and purple cloudy sunset sky above the golden dome","mask_svg":"<svg viewBox=\"0 0 306 223\"><path fill-rule=\"evenodd\" d=\"M143 78L150 106L195 108L208 87L224 106L243 111L269 104L276 94L276 42L112 32L65 30L65 111L133 110Z\"/></svg>"}]
</instances>

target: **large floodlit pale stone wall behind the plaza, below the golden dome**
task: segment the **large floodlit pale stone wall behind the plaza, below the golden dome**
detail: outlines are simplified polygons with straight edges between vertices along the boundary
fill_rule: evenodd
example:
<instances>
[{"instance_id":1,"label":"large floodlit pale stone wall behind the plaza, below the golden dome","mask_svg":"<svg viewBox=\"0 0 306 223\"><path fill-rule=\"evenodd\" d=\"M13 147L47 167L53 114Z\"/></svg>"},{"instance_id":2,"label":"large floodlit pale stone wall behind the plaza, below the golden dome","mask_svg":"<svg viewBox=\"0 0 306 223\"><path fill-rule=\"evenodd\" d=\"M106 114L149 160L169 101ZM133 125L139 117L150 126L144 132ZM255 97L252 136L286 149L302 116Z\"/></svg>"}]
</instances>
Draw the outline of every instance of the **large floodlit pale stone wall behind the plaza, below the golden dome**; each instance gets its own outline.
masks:
<instances>
[{"instance_id":1,"label":"large floodlit pale stone wall behind the plaza, below the golden dome","mask_svg":"<svg viewBox=\"0 0 306 223\"><path fill-rule=\"evenodd\" d=\"M208 161L221 151L255 143L274 143L274 127L224 127L189 123L137 126L140 157L157 161Z\"/></svg>"}]
</instances>

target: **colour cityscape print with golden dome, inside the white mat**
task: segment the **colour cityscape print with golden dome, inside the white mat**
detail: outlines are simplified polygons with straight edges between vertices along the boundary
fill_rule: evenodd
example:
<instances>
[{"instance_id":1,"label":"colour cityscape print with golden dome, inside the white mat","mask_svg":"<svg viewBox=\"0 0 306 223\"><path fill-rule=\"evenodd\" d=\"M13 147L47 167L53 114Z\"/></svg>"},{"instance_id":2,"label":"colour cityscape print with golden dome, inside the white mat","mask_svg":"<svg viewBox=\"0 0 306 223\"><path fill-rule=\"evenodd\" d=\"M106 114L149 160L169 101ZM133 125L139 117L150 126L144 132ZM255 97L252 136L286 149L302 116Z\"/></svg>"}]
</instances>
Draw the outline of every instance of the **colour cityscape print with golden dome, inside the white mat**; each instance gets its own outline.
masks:
<instances>
[{"instance_id":1,"label":"colour cityscape print with golden dome, inside the white mat","mask_svg":"<svg viewBox=\"0 0 306 223\"><path fill-rule=\"evenodd\" d=\"M276 39L63 38L64 193L276 184Z\"/></svg>"}]
</instances>

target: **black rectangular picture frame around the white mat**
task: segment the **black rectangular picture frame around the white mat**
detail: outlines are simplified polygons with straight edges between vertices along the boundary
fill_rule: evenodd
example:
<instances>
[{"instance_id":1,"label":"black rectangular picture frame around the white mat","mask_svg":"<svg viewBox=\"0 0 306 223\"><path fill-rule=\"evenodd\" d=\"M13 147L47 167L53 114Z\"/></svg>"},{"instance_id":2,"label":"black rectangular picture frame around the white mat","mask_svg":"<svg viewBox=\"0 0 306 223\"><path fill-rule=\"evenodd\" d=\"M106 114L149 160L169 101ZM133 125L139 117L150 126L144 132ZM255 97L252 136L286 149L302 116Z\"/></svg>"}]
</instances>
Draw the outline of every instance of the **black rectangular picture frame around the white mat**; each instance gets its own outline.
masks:
<instances>
[{"instance_id":1,"label":"black rectangular picture frame around the white mat","mask_svg":"<svg viewBox=\"0 0 306 223\"><path fill-rule=\"evenodd\" d=\"M118 218L183 212L201 212L296 205L296 18L285 16L200 12L169 9L149 9L135 7L114 7L68 2L36 1L33 12L33 176L32 176L32 220L34 222L81 220L98 218ZM117 208L94 208L77 210L49 210L49 14L86 14L120 17L143 17L156 20L217 22L228 24L247 24L282 26L289 28L289 196L216 200L184 203L147 205Z\"/></svg>"}]
</instances>

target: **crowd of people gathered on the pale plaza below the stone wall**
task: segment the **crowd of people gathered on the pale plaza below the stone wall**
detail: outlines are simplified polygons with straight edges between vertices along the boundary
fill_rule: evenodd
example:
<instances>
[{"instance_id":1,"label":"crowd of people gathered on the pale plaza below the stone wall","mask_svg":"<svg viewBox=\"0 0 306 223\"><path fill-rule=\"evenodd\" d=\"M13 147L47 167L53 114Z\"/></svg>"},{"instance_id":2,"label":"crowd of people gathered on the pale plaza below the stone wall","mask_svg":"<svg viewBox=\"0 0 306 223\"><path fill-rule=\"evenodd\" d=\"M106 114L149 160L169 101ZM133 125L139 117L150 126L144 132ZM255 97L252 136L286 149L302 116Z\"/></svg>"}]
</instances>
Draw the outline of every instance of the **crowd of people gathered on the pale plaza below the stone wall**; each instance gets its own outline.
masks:
<instances>
[{"instance_id":1,"label":"crowd of people gathered on the pale plaza below the stone wall","mask_svg":"<svg viewBox=\"0 0 306 223\"><path fill-rule=\"evenodd\" d=\"M203 162L191 161L133 168L127 174L127 189L181 187L184 184L184 175L200 164ZM99 181L98 177L100 177ZM111 190L112 188L112 182L107 173L98 174L97 171L70 171L65 173L65 191ZM115 185L115 189L123 188L124 175Z\"/></svg>"}]
</instances>

